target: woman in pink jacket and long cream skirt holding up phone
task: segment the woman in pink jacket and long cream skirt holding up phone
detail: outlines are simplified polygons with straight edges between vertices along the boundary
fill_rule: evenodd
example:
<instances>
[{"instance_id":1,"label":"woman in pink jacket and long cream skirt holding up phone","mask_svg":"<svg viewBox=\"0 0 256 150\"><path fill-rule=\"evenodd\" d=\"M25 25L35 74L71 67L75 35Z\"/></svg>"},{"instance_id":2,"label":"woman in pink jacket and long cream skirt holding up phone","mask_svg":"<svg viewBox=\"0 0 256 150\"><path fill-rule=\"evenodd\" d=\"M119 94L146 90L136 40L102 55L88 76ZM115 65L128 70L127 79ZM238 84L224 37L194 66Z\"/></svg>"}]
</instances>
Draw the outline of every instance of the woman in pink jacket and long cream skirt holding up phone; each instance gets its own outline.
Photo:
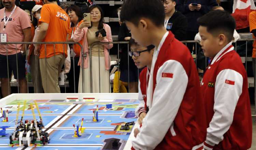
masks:
<instances>
[{"instance_id":1,"label":"woman in pink jacket and long cream skirt holding up phone","mask_svg":"<svg viewBox=\"0 0 256 150\"><path fill-rule=\"evenodd\" d=\"M89 7L88 12L90 13L91 26L86 20L82 20L83 23L75 30L73 35L74 42L79 42L83 39L83 53L87 54L87 57L83 57L83 69L82 69L82 55L78 65L80 65L80 77L78 92L79 93L90 93L90 81L93 82L93 93L109 93L109 52L108 49L113 47L113 44L99 44L91 47L95 42L112 42L112 34L110 26L103 23L103 11L100 6L92 5ZM98 30L104 29L106 31L106 36L102 36L99 33L96 36ZM92 56L92 78L90 77L90 61L89 61L89 49L91 50ZM82 80L83 71L83 80ZM84 87L84 91L83 91Z\"/></svg>"}]
</instances>

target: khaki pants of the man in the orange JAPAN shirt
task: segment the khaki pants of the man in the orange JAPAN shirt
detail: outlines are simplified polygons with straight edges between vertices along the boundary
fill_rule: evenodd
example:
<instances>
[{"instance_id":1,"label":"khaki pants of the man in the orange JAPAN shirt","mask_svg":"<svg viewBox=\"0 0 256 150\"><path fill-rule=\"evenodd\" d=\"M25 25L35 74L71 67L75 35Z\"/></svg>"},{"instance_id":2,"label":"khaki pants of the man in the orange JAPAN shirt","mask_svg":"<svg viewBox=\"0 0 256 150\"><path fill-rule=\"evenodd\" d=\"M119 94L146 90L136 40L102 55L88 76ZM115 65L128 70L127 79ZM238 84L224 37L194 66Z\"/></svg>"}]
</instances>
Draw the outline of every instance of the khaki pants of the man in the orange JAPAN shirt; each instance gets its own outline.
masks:
<instances>
[{"instance_id":1,"label":"khaki pants of the man in the orange JAPAN shirt","mask_svg":"<svg viewBox=\"0 0 256 150\"><path fill-rule=\"evenodd\" d=\"M60 93L58 78L64 62L65 57L62 54L39 59L45 93Z\"/></svg>"}]
</instances>

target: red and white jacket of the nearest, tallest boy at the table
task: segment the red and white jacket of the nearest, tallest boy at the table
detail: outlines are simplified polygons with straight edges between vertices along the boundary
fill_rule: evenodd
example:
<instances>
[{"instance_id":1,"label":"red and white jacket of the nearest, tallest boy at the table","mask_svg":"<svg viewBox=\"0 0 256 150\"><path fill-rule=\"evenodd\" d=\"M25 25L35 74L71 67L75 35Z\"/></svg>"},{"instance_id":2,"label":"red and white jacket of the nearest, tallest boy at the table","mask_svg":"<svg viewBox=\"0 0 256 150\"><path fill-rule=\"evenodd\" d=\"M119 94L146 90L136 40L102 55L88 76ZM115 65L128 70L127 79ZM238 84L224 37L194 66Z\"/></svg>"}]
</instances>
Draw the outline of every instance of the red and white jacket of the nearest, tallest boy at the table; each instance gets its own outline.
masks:
<instances>
[{"instance_id":1,"label":"red and white jacket of the nearest, tallest boy at the table","mask_svg":"<svg viewBox=\"0 0 256 150\"><path fill-rule=\"evenodd\" d=\"M188 48L166 32L154 51L146 93L149 111L133 148L203 149L207 124L199 88Z\"/></svg>"}]
</instances>

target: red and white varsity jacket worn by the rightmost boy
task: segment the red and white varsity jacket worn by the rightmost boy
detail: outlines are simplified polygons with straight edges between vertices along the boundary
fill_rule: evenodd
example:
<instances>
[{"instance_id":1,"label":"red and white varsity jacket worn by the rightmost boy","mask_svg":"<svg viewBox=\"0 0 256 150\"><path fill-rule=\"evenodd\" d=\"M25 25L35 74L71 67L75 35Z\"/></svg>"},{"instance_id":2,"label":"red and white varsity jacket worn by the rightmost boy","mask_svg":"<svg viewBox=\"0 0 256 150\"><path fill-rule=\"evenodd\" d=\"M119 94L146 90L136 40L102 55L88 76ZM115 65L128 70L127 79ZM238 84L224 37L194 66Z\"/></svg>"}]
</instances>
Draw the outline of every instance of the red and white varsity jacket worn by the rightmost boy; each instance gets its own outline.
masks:
<instances>
[{"instance_id":1,"label":"red and white varsity jacket worn by the rightmost boy","mask_svg":"<svg viewBox=\"0 0 256 150\"><path fill-rule=\"evenodd\" d=\"M204 149L249 149L252 117L247 74L231 42L211 61L200 91L208 123Z\"/></svg>"}]
</instances>

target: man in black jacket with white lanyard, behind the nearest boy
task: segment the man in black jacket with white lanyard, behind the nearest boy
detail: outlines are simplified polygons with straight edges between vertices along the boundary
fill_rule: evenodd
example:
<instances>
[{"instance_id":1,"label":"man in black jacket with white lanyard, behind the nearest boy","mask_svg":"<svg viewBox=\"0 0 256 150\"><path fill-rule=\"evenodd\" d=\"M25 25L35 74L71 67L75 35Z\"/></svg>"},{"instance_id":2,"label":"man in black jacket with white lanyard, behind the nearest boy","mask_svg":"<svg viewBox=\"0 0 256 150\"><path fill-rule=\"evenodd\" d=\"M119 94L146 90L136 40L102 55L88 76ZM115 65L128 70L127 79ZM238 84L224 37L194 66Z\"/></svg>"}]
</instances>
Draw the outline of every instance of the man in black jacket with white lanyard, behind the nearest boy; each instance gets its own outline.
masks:
<instances>
[{"instance_id":1,"label":"man in black jacket with white lanyard, behind the nearest boy","mask_svg":"<svg viewBox=\"0 0 256 150\"><path fill-rule=\"evenodd\" d=\"M175 10L176 0L162 0L165 7L165 27L172 31L179 41L186 40L187 18L181 12Z\"/></svg>"}]
</instances>

